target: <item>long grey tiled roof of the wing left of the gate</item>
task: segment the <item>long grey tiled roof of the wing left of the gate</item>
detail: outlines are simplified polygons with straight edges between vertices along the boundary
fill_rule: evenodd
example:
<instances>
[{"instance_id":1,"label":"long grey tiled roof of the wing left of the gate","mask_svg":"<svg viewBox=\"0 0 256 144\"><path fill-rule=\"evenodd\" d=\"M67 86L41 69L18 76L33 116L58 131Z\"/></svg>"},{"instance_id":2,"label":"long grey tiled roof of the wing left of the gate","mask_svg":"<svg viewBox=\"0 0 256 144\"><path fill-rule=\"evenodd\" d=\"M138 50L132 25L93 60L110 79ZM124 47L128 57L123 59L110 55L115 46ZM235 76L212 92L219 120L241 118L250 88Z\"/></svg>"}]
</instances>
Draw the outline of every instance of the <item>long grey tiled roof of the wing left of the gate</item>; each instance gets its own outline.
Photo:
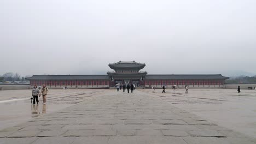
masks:
<instances>
[{"instance_id":1,"label":"long grey tiled roof of the wing left of the gate","mask_svg":"<svg viewBox=\"0 0 256 144\"><path fill-rule=\"evenodd\" d=\"M26 80L109 80L108 75L33 75Z\"/></svg>"}]
</instances>

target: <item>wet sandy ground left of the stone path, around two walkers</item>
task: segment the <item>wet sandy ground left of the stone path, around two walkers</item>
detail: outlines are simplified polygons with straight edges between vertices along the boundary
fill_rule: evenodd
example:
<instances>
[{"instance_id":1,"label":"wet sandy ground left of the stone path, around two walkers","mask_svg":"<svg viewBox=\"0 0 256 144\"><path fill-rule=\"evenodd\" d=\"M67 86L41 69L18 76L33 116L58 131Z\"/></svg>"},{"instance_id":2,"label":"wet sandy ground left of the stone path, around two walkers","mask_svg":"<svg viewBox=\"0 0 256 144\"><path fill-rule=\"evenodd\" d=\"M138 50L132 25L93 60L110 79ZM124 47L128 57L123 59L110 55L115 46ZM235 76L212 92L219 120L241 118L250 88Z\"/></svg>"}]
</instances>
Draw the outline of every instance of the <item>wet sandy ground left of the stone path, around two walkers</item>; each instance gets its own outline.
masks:
<instances>
[{"instance_id":1,"label":"wet sandy ground left of the stone path, around two walkers","mask_svg":"<svg viewBox=\"0 0 256 144\"><path fill-rule=\"evenodd\" d=\"M26 122L44 113L65 109L103 91L101 89L50 89L46 105L43 105L42 97L38 98L38 105L31 104L31 90L0 91L0 129Z\"/></svg>"}]
</instances>

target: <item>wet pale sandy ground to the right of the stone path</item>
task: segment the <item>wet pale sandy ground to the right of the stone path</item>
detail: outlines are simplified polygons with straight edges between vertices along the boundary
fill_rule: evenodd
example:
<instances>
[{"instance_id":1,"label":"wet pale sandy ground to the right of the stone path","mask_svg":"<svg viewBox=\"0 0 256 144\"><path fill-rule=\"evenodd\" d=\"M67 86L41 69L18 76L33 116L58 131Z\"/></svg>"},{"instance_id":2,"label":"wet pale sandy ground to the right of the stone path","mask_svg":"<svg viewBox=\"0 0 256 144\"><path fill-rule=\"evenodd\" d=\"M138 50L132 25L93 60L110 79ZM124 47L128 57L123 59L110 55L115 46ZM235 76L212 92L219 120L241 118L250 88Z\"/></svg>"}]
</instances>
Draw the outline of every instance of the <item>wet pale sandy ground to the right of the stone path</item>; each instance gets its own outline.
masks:
<instances>
[{"instance_id":1,"label":"wet pale sandy ground to the right of the stone path","mask_svg":"<svg viewBox=\"0 0 256 144\"><path fill-rule=\"evenodd\" d=\"M189 89L188 94L185 89L166 89L166 94L158 90L144 91L207 121L256 137L255 90L242 89L240 94L236 89Z\"/></svg>"}]
</instances>

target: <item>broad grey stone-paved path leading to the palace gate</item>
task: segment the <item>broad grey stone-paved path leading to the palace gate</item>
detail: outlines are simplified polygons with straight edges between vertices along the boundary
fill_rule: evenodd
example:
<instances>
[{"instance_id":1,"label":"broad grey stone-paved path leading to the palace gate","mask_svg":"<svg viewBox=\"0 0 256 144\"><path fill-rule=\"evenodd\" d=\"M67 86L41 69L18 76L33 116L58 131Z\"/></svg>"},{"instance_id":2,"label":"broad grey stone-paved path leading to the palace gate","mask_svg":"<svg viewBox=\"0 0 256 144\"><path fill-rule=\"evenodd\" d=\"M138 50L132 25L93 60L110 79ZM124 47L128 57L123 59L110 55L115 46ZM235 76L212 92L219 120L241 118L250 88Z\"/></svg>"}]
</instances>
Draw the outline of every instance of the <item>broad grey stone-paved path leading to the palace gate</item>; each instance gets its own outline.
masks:
<instances>
[{"instance_id":1,"label":"broad grey stone-paved path leading to the palace gate","mask_svg":"<svg viewBox=\"0 0 256 144\"><path fill-rule=\"evenodd\" d=\"M0 130L0 143L256 143L156 95L107 89L64 110Z\"/></svg>"}]
</instances>

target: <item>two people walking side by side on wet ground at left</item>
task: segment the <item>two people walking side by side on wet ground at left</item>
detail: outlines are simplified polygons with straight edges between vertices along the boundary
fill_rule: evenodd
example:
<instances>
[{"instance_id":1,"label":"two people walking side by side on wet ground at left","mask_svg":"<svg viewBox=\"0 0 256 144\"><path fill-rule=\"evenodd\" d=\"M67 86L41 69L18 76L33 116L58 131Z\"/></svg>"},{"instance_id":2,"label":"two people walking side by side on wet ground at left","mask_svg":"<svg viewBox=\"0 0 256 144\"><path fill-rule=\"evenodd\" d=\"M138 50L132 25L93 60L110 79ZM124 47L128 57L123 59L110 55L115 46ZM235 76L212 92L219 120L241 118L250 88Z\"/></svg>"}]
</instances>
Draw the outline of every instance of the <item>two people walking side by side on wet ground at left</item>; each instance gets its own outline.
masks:
<instances>
[{"instance_id":1,"label":"two people walking side by side on wet ground at left","mask_svg":"<svg viewBox=\"0 0 256 144\"><path fill-rule=\"evenodd\" d=\"M37 85L34 85L34 87L32 89L32 97L31 97L31 100L33 100L33 104L36 104L36 101L38 104L38 102L39 102L38 95L40 97L41 94L43 95L43 104L45 105L46 104L46 95L48 94L48 88L45 85L43 85L42 89L40 90L39 88L37 88Z\"/></svg>"}]
</instances>

